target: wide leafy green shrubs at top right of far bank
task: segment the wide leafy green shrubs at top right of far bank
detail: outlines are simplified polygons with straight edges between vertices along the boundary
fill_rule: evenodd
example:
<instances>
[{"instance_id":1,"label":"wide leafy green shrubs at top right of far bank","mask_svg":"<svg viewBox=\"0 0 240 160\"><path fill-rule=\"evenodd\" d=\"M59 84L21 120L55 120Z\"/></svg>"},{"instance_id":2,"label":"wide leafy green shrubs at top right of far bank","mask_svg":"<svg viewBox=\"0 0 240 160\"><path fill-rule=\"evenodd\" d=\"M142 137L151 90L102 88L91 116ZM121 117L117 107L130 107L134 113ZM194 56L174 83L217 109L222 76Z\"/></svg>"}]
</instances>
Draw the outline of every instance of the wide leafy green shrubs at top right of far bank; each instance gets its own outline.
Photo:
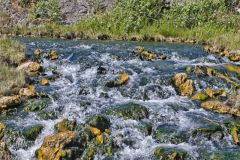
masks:
<instances>
[{"instance_id":1,"label":"wide leafy green shrubs at top right of far bank","mask_svg":"<svg viewBox=\"0 0 240 160\"><path fill-rule=\"evenodd\" d=\"M164 19L178 27L193 28L210 23L231 28L236 24L236 20L240 19L229 13L229 4L225 1L191 0L185 4L175 3L169 11L166 11Z\"/></svg>"}]
</instances>

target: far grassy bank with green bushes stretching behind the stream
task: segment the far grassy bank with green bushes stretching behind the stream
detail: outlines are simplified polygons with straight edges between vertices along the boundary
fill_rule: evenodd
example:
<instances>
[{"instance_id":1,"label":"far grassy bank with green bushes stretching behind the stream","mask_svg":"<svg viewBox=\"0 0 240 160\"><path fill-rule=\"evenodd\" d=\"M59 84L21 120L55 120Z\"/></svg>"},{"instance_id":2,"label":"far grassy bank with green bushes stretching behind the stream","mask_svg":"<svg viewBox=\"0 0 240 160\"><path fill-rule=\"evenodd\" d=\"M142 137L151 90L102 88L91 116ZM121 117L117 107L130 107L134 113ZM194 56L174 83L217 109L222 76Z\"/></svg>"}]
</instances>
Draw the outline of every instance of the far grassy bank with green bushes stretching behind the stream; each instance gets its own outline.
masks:
<instances>
[{"instance_id":1,"label":"far grassy bank with green bushes stretching behind the stream","mask_svg":"<svg viewBox=\"0 0 240 160\"><path fill-rule=\"evenodd\" d=\"M147 37L157 39L161 36L195 38L237 50L240 49L240 14L233 8L238 3L238 0L189 0L185 4L174 3L168 8L164 0L118 0L111 12L97 13L64 26L59 22L56 0L51 3L52 6L55 4L53 7L39 1L32 7L31 20L41 17L37 13L41 9L51 10L48 13L52 14L41 17L44 23L39 26L29 28L23 24L12 32L17 35L82 39L96 39L99 34L129 40L149 40Z\"/></svg>"}]
</instances>

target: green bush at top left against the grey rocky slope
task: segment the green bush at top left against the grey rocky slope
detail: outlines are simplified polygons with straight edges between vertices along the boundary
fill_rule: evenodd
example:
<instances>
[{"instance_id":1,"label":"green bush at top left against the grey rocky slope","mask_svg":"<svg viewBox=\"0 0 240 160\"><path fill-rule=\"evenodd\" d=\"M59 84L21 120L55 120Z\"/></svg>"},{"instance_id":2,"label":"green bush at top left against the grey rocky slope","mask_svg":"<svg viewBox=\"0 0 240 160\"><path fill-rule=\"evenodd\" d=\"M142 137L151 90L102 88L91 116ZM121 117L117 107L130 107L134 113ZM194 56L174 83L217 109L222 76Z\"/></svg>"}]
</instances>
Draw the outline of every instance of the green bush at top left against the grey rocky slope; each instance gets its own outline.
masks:
<instances>
[{"instance_id":1,"label":"green bush at top left against the grey rocky slope","mask_svg":"<svg viewBox=\"0 0 240 160\"><path fill-rule=\"evenodd\" d=\"M31 19L46 19L52 22L60 21L59 0L39 0L33 5L30 14Z\"/></svg>"}]
</instances>

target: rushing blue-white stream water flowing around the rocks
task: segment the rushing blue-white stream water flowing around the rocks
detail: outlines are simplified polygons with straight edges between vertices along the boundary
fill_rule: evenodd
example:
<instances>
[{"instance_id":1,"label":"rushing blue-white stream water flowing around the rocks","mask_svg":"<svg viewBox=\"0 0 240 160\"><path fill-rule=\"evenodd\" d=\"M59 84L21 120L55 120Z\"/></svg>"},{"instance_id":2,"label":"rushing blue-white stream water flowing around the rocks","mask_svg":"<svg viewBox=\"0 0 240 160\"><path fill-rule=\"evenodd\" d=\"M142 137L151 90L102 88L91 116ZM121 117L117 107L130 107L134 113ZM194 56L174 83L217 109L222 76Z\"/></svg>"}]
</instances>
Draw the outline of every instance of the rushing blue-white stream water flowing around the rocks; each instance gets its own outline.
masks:
<instances>
[{"instance_id":1,"label":"rushing blue-white stream water flowing around the rocks","mask_svg":"<svg viewBox=\"0 0 240 160\"><path fill-rule=\"evenodd\" d=\"M212 123L223 124L231 121L232 118L228 115L206 111L200 108L199 103L179 96L171 84L172 76L184 72L187 66L208 65L223 70L223 65L229 63L226 59L207 54L201 46L48 39L20 41L26 45L29 56L36 48L42 48L44 52L56 49L61 59L44 59L42 66L45 68L46 77L51 76L51 69L55 69L61 76L51 82L49 87L36 84L38 91L57 97L52 98L51 105L46 109L48 112L56 111L56 119L43 120L35 112L24 113L22 107L7 118L2 118L8 126L20 130L33 124L44 125L44 130L35 142L19 137L12 143L10 147L15 159L35 159L35 151L41 146L44 137L53 134L54 125L62 119L84 123L91 115L103 113L110 107L126 102L142 104L149 109L149 119L144 121L152 123L153 133L147 136L137 129L142 125L142 121L108 116L112 123L112 137L120 146L114 155L115 159L154 159L154 149L159 146L183 149L191 155L190 159L210 159L214 154L240 151L227 132L224 132L221 138L216 133L211 138L190 137L186 142L178 144L160 143L154 139L154 130L158 126L169 128L173 134L190 134L193 130ZM143 46L157 54L165 53L168 59L152 62L135 59L132 51L136 46ZM107 69L106 75L97 75L99 66ZM128 83L117 88L106 88L105 83L121 72L130 75ZM210 86L225 88L231 92L222 79L198 78L193 74L191 76L198 84L195 86L198 90ZM83 92L84 94L81 94ZM118 136L119 134L123 136ZM228 158L235 159L234 156ZM96 159L101 159L101 156Z\"/></svg>"}]
</instances>

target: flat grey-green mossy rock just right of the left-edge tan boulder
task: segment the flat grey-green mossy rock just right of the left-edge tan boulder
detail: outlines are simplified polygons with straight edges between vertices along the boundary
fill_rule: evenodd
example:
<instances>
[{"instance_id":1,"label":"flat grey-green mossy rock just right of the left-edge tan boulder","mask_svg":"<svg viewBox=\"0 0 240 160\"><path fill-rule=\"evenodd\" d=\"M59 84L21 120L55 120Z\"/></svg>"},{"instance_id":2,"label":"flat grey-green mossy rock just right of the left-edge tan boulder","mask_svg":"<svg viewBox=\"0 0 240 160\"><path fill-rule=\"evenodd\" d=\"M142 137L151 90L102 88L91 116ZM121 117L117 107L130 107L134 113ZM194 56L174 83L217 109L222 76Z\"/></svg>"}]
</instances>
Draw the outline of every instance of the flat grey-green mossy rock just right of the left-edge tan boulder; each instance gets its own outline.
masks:
<instances>
[{"instance_id":1,"label":"flat grey-green mossy rock just right of the left-edge tan boulder","mask_svg":"<svg viewBox=\"0 0 240 160\"><path fill-rule=\"evenodd\" d=\"M41 100L29 100L27 105L24 107L24 112L35 112L40 111L48 107L50 99L41 99Z\"/></svg>"}]
</instances>

